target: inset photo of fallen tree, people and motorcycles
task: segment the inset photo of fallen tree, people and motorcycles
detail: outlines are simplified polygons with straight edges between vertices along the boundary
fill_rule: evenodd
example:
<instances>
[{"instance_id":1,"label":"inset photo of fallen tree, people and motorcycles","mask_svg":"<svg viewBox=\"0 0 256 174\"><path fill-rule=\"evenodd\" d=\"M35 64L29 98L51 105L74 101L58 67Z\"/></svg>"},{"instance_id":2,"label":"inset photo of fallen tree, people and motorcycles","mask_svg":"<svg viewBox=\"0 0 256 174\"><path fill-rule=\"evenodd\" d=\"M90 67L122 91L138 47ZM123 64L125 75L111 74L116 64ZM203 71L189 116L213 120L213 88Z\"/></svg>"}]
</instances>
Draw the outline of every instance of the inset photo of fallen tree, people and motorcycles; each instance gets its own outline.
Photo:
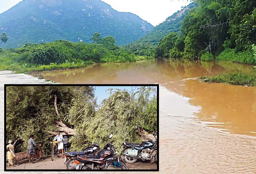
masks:
<instances>
[{"instance_id":1,"label":"inset photo of fallen tree, people and motorcycles","mask_svg":"<svg viewBox=\"0 0 256 174\"><path fill-rule=\"evenodd\" d=\"M5 171L159 171L158 94L158 84L5 84Z\"/></svg>"}]
</instances>

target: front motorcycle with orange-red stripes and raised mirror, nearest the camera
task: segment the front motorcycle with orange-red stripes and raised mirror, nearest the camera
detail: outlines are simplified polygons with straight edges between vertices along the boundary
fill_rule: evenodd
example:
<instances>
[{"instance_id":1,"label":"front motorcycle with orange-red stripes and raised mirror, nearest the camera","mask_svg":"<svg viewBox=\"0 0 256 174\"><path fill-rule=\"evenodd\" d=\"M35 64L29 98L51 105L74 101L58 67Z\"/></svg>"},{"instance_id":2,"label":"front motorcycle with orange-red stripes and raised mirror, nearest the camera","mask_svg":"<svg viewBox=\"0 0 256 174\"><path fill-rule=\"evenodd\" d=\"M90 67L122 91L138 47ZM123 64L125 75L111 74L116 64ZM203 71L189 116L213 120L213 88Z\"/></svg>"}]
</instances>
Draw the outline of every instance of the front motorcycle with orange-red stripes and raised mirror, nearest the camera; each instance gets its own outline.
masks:
<instances>
[{"instance_id":1,"label":"front motorcycle with orange-red stripes and raised mirror, nearest the camera","mask_svg":"<svg viewBox=\"0 0 256 174\"><path fill-rule=\"evenodd\" d=\"M112 138L112 134L109 138ZM95 156L93 155L84 155L74 158L74 162L77 165L77 170L117 170L129 168L125 165L125 162L122 158L115 152L117 147L114 147L112 143L114 140L109 142L104 146L104 148Z\"/></svg>"}]
</instances>

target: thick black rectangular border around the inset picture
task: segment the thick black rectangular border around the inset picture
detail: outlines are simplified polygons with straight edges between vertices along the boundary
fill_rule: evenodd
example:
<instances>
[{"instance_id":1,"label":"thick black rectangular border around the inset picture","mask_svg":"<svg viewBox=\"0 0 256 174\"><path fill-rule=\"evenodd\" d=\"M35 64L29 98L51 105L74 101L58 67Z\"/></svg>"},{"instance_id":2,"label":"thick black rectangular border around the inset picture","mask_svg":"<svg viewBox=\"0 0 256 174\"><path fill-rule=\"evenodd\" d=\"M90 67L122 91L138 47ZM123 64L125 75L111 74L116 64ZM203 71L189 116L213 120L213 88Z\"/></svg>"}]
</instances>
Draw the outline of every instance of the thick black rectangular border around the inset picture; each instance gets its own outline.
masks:
<instances>
[{"instance_id":1,"label":"thick black rectangular border around the inset picture","mask_svg":"<svg viewBox=\"0 0 256 174\"><path fill-rule=\"evenodd\" d=\"M157 169L131 169L131 170L94 170L95 172L107 172L107 171L159 171L159 84L5 84L5 135L6 140L6 86L156 86L157 87ZM5 144L5 142L4 142ZM4 145L5 151L5 145ZM4 155L4 171L82 171L82 170L53 170L53 169L6 169L6 152ZM151 165L150 163L148 163Z\"/></svg>"}]
</instances>

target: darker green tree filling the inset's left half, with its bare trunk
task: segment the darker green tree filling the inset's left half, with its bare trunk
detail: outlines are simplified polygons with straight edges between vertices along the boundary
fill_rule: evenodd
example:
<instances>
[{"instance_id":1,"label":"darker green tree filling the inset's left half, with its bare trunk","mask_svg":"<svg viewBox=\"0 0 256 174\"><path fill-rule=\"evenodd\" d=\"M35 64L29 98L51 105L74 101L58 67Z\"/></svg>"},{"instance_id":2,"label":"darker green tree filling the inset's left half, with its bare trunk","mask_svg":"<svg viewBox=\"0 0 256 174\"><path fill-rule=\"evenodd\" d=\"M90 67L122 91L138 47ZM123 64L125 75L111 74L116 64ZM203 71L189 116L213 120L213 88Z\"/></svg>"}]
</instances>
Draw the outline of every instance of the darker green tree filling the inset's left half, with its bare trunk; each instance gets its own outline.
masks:
<instances>
[{"instance_id":1,"label":"darker green tree filling the inset's left half, with its bare trunk","mask_svg":"<svg viewBox=\"0 0 256 174\"><path fill-rule=\"evenodd\" d=\"M18 136L26 142L29 135L34 134L35 141L41 141L44 147L50 147L49 141L52 135L56 135L57 130L63 135L74 135L74 123L68 122L67 117L73 117L69 116L69 111L70 107L75 105L72 99L77 96L94 98L94 89L89 86L6 87L7 139L15 139L15 136ZM26 143L17 148L20 151L25 149Z\"/></svg>"}]
</instances>

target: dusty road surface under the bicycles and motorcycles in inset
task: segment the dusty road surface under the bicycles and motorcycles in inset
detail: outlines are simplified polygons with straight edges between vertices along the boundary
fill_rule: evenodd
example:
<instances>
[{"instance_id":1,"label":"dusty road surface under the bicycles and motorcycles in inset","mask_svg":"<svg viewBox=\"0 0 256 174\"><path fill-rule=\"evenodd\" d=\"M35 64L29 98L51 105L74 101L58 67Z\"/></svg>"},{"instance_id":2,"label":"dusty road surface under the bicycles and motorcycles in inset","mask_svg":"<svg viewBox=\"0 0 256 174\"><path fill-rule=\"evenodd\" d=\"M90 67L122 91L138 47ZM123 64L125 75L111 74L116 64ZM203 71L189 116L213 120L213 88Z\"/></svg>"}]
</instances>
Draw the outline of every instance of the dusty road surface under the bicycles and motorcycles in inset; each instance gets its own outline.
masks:
<instances>
[{"instance_id":1,"label":"dusty road surface under the bicycles and motorcycles in inset","mask_svg":"<svg viewBox=\"0 0 256 174\"><path fill-rule=\"evenodd\" d=\"M8 169L53 169L53 170L65 170L65 164L64 164L64 159L62 158L57 158L56 156L54 157L54 161L51 160L51 157L48 156L46 159L44 160L40 160L37 161L36 163L29 163L28 160L23 160L20 162L17 162L17 164L19 164L19 166L16 167L11 167L11 166L6 166L6 170ZM129 169L157 169L157 165L156 163L154 164L150 164L148 162L143 162L143 161L139 161L136 162L134 164L128 164L126 163L127 167Z\"/></svg>"}]
</instances>

